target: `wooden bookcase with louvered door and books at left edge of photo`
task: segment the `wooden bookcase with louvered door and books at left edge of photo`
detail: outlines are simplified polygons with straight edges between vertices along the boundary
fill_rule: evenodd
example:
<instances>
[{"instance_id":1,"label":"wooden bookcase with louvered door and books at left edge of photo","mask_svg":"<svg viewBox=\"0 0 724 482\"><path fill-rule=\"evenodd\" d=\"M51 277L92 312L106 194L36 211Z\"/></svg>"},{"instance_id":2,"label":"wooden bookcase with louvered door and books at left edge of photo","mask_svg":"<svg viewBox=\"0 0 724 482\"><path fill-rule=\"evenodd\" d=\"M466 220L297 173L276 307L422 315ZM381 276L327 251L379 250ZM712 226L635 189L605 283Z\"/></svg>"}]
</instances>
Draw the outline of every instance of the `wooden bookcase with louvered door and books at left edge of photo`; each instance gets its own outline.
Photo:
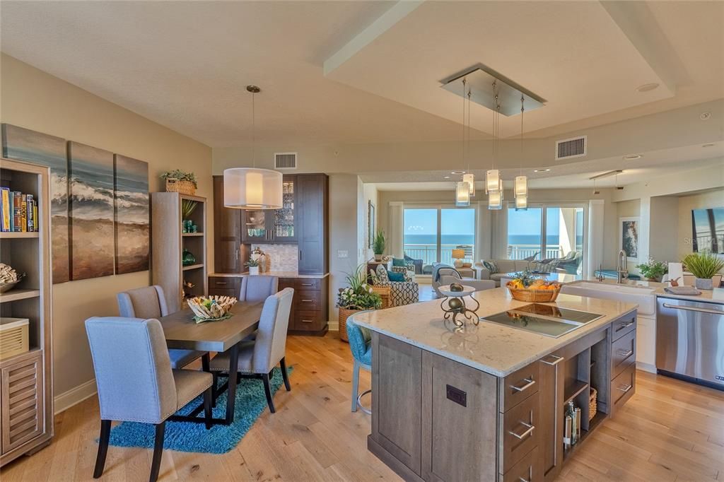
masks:
<instances>
[{"instance_id":1,"label":"wooden bookcase with louvered door and books at left edge of photo","mask_svg":"<svg viewBox=\"0 0 724 482\"><path fill-rule=\"evenodd\" d=\"M28 318L29 350L0 360L0 466L33 453L53 437L50 172L0 159L0 184L38 200L38 232L0 232L0 261L24 279L0 293L0 315Z\"/></svg>"}]
</instances>

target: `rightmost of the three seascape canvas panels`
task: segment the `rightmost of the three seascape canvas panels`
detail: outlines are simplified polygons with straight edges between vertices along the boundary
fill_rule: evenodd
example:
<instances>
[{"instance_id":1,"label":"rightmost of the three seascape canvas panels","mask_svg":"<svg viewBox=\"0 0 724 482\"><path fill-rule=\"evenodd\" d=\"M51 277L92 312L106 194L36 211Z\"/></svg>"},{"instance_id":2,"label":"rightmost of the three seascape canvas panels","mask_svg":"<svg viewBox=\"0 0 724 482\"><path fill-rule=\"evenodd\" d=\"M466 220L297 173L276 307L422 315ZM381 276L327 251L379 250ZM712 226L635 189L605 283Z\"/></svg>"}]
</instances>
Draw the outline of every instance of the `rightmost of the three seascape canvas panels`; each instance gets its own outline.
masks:
<instances>
[{"instance_id":1,"label":"rightmost of the three seascape canvas panels","mask_svg":"<svg viewBox=\"0 0 724 482\"><path fill-rule=\"evenodd\" d=\"M148 270L148 163L115 155L116 274Z\"/></svg>"}]
</instances>

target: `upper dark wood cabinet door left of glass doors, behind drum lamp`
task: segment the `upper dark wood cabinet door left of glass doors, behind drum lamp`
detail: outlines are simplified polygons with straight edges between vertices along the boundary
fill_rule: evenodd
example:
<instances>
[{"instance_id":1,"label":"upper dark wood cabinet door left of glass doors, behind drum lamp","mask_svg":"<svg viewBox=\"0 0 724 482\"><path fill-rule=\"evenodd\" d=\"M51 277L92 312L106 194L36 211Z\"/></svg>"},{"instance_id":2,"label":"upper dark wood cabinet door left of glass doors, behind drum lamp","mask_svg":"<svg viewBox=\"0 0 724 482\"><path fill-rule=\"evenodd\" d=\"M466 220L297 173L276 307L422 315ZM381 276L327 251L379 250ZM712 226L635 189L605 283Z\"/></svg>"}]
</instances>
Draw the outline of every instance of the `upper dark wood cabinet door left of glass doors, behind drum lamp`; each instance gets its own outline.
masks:
<instances>
[{"instance_id":1,"label":"upper dark wood cabinet door left of glass doors, behind drum lamp","mask_svg":"<svg viewBox=\"0 0 724 482\"><path fill-rule=\"evenodd\" d=\"M224 208L224 177L214 176L214 271L241 273L240 209Z\"/></svg>"}]
</instances>

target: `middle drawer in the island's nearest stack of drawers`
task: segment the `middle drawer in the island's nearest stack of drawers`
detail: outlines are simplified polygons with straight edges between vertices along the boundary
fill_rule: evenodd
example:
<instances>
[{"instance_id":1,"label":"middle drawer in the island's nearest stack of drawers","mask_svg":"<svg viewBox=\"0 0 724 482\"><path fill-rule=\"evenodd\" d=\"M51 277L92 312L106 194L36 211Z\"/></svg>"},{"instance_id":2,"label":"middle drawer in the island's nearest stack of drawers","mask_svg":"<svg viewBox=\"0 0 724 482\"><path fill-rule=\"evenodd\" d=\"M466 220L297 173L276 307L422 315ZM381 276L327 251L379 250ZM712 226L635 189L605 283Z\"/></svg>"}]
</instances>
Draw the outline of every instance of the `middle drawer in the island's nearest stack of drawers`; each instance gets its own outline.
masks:
<instances>
[{"instance_id":1,"label":"middle drawer in the island's nearest stack of drawers","mask_svg":"<svg viewBox=\"0 0 724 482\"><path fill-rule=\"evenodd\" d=\"M532 394L507 412L500 413L498 417L500 430L498 471L507 473L538 446L540 431L536 428L539 424L538 394Z\"/></svg>"}]
</instances>

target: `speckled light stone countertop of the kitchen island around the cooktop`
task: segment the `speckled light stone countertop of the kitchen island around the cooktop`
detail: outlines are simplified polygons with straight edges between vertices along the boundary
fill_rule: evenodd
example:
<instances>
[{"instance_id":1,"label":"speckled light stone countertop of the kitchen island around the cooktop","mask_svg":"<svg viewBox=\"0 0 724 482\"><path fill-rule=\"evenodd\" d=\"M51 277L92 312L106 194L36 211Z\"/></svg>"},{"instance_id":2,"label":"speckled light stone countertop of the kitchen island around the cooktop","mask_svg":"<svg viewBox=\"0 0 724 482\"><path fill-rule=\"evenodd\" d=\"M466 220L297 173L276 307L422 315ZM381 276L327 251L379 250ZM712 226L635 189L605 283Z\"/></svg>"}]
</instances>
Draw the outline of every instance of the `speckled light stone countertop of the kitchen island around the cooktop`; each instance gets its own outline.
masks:
<instances>
[{"instance_id":1,"label":"speckled light stone countertop of the kitchen island around the cooktop","mask_svg":"<svg viewBox=\"0 0 724 482\"><path fill-rule=\"evenodd\" d=\"M476 292L473 296L480 302L477 312L479 316L490 316L529 304L513 300L505 288L487 289ZM464 331L455 331L452 322L445 324L443 321L440 300L358 313L354 320L373 331L494 376L508 376L560 347L610 324L619 316L636 310L637 306L573 295L558 295L555 304L603 316L560 338L544 337L532 331L489 321L480 321L478 326L468 322Z\"/></svg>"}]
</instances>

